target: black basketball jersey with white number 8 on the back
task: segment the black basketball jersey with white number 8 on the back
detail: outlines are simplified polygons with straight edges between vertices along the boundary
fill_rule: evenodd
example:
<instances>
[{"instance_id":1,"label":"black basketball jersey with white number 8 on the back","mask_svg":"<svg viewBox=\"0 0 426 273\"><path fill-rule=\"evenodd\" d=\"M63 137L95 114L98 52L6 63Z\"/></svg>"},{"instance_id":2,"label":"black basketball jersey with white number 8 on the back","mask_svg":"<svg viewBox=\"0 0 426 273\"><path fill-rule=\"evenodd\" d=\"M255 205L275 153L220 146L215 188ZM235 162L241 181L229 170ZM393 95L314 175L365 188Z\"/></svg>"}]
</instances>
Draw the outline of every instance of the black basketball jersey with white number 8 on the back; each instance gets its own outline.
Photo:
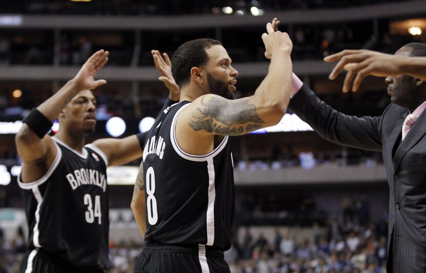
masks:
<instances>
[{"instance_id":1,"label":"black basketball jersey with white number 8 on the back","mask_svg":"<svg viewBox=\"0 0 426 273\"><path fill-rule=\"evenodd\" d=\"M190 104L166 109L146 135L143 168L145 240L230 248L234 170L228 136L206 155L184 152L175 138L177 117Z\"/></svg>"}]
</instances>

